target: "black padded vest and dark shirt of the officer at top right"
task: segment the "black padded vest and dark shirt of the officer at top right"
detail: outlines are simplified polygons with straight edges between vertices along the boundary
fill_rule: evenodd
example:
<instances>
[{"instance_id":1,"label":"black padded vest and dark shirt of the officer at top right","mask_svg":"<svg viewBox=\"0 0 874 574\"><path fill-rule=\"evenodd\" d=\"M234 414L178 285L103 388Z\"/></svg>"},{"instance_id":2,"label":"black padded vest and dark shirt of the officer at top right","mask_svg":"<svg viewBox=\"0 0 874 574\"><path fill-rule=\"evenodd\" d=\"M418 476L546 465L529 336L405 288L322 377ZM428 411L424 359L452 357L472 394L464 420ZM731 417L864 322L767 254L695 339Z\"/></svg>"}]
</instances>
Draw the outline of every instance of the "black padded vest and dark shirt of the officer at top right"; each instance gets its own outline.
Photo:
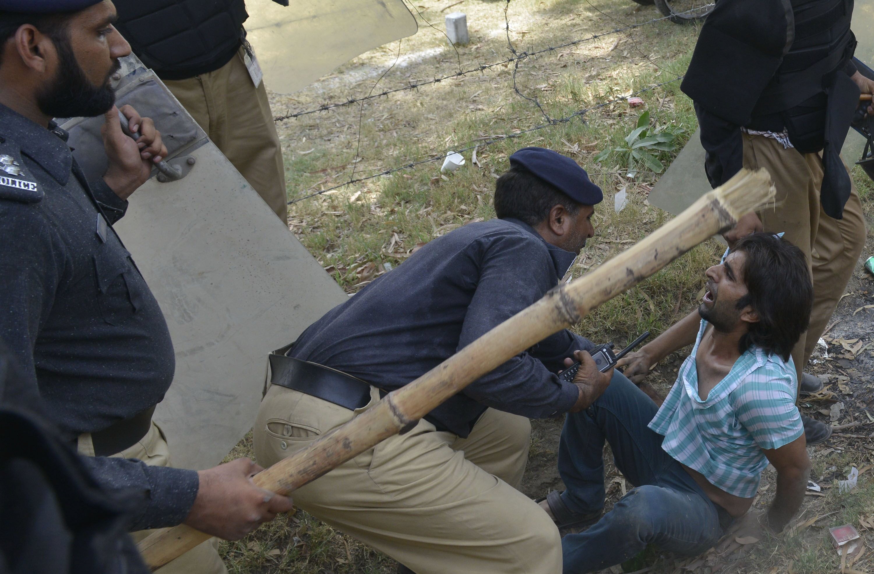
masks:
<instances>
[{"instance_id":1,"label":"black padded vest and dark shirt of the officer at top right","mask_svg":"<svg viewBox=\"0 0 874 574\"><path fill-rule=\"evenodd\" d=\"M697 110L786 128L799 152L822 150L822 209L836 219L852 187L839 154L859 103L852 13L853 0L717 0L681 86ZM720 137L701 128L702 142Z\"/></svg>"}]
</instances>

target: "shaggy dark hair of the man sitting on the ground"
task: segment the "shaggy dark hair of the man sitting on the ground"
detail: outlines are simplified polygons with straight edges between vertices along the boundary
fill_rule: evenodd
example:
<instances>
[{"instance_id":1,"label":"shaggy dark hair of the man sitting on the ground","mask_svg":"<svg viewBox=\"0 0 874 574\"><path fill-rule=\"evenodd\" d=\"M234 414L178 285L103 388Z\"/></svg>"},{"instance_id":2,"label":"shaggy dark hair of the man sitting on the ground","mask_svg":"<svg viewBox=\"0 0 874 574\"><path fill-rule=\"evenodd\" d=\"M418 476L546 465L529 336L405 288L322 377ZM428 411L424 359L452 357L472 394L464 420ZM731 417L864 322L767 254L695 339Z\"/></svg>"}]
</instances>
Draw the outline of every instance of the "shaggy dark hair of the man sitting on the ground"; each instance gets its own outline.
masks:
<instances>
[{"instance_id":1,"label":"shaggy dark hair of the man sitting on the ground","mask_svg":"<svg viewBox=\"0 0 874 574\"><path fill-rule=\"evenodd\" d=\"M738 308L749 305L759 315L741 337L740 352L755 345L788 361L813 308L814 286L804 253L766 232L740 239L733 251L746 253L742 274L749 293L738 300Z\"/></svg>"}]
</instances>

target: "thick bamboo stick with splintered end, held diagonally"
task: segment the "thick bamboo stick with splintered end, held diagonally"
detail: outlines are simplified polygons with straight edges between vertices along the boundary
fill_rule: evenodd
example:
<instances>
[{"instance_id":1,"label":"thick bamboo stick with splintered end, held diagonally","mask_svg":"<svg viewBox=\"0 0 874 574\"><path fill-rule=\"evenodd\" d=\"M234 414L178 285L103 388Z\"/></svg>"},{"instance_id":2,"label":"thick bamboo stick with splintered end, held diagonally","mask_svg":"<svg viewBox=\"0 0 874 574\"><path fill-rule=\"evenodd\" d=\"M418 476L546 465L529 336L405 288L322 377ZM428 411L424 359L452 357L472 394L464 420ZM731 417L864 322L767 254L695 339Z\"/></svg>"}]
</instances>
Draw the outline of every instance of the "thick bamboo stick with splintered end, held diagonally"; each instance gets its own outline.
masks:
<instances>
[{"instance_id":1,"label":"thick bamboo stick with splintered end, held diagonally","mask_svg":"<svg viewBox=\"0 0 874 574\"><path fill-rule=\"evenodd\" d=\"M390 392L371 409L307 448L255 475L260 488L289 494L420 418L477 378L562 328L579 322L601 303L635 286L684 252L771 202L774 189L764 169L738 175L704 195L648 238L492 328L410 384ZM152 569L210 536L184 525L160 530L139 545Z\"/></svg>"}]
</instances>

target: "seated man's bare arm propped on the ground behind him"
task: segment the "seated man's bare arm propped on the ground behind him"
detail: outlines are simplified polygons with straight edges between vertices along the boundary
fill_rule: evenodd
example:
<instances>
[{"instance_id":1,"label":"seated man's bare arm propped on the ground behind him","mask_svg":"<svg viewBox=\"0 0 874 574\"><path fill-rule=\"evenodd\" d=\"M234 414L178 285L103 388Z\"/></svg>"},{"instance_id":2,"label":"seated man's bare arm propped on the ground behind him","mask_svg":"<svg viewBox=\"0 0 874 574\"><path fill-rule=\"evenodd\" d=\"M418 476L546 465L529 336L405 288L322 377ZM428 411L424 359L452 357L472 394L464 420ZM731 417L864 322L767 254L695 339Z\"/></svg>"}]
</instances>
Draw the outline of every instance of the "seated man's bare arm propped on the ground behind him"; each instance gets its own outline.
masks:
<instances>
[{"instance_id":1,"label":"seated man's bare arm propped on the ground behind him","mask_svg":"<svg viewBox=\"0 0 874 574\"><path fill-rule=\"evenodd\" d=\"M768 526L780 532L798 511L808 486L810 460L804 435L780 448L766 450L765 456L777 469L777 494L767 510Z\"/></svg>"}]
</instances>

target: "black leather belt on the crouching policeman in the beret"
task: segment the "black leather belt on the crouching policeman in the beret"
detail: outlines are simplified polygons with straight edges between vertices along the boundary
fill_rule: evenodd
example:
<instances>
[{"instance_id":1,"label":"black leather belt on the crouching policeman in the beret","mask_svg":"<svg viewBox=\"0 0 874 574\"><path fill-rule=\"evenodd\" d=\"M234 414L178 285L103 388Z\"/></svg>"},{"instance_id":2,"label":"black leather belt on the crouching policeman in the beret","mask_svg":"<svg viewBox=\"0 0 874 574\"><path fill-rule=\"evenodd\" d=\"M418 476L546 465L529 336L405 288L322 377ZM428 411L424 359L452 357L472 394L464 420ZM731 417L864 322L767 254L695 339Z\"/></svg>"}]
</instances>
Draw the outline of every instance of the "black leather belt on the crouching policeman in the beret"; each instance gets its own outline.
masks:
<instances>
[{"instance_id":1,"label":"black leather belt on the crouching policeman in the beret","mask_svg":"<svg viewBox=\"0 0 874 574\"><path fill-rule=\"evenodd\" d=\"M292 356L270 355L270 384L354 411L371 402L371 385L343 371Z\"/></svg>"}]
</instances>

